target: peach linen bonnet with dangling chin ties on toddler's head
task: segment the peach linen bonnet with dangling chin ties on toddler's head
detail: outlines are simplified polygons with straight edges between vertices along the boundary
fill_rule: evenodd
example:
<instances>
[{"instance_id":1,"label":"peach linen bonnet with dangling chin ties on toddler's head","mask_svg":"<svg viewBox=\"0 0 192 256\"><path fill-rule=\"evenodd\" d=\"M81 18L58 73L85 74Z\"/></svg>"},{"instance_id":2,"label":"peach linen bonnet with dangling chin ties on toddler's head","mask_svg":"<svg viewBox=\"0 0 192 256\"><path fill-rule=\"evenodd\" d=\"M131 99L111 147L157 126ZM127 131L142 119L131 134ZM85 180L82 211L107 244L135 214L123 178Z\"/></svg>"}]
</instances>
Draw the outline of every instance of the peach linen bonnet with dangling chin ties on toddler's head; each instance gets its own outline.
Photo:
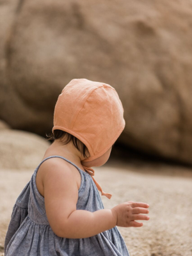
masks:
<instances>
[{"instance_id":1,"label":"peach linen bonnet with dangling chin ties on toddler's head","mask_svg":"<svg viewBox=\"0 0 192 256\"><path fill-rule=\"evenodd\" d=\"M115 88L106 83L88 79L72 79L58 96L54 108L54 126L68 132L82 141L88 148L90 157L81 161L92 161L115 143L125 127L124 108ZM83 166L92 178L94 170ZM93 178L101 195L111 198L102 191Z\"/></svg>"}]
</instances>

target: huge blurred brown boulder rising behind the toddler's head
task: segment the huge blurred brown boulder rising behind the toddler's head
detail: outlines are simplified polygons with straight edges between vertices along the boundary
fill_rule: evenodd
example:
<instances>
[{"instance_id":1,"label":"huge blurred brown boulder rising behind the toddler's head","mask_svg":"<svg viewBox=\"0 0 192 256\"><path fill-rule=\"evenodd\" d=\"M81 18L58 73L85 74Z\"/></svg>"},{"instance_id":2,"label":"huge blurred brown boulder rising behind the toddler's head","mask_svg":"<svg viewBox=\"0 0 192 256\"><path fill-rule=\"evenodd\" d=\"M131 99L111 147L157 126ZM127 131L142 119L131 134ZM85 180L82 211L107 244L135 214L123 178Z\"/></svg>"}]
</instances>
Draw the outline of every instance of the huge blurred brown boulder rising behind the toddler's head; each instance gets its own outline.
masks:
<instances>
[{"instance_id":1,"label":"huge blurred brown boulder rising behind the toddler's head","mask_svg":"<svg viewBox=\"0 0 192 256\"><path fill-rule=\"evenodd\" d=\"M19 3L0 118L45 135L65 84L103 81L124 105L122 143L192 163L191 1Z\"/></svg>"}]
</instances>

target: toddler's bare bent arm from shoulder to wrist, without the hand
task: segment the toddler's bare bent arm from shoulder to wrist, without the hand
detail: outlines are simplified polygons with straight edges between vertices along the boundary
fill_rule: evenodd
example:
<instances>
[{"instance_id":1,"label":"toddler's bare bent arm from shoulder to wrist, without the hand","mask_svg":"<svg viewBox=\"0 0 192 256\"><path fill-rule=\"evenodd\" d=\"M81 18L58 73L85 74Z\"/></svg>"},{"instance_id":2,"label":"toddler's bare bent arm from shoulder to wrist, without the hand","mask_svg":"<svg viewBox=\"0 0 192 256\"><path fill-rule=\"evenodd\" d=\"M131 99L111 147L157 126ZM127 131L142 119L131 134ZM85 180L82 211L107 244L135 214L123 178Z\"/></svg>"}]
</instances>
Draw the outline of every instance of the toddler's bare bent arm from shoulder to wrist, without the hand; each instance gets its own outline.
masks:
<instances>
[{"instance_id":1,"label":"toddler's bare bent arm from shoulder to wrist, without the hand","mask_svg":"<svg viewBox=\"0 0 192 256\"><path fill-rule=\"evenodd\" d=\"M43 164L45 211L57 236L85 238L115 227L116 215L110 209L95 212L76 209L78 188L71 169L76 167L65 164L63 168L55 159Z\"/></svg>"}]
</instances>

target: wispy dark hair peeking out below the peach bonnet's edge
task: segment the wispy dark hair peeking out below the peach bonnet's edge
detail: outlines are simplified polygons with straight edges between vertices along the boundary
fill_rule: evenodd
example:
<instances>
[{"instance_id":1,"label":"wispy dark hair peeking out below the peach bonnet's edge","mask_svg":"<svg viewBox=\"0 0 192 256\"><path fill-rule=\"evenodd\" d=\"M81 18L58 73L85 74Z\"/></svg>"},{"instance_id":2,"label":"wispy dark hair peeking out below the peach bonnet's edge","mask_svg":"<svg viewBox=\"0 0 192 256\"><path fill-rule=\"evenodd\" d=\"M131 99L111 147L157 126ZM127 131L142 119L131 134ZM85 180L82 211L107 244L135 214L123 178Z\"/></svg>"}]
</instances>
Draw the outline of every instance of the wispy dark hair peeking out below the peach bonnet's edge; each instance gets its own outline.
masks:
<instances>
[{"instance_id":1,"label":"wispy dark hair peeking out below the peach bonnet's edge","mask_svg":"<svg viewBox=\"0 0 192 256\"><path fill-rule=\"evenodd\" d=\"M61 141L62 145L67 145L70 141L73 142L74 146L81 152L81 149L79 148L79 143L82 145L83 144L83 156L86 156L86 151L88 151L88 148L86 147L86 145L84 145L84 143L82 141L80 141L79 139L77 139L75 136L73 136L72 134L65 132L65 131L61 131L61 130L54 130L53 132L51 132L51 134L47 135L47 138L45 138L45 140L59 140ZM81 152L82 153L82 152Z\"/></svg>"}]
</instances>

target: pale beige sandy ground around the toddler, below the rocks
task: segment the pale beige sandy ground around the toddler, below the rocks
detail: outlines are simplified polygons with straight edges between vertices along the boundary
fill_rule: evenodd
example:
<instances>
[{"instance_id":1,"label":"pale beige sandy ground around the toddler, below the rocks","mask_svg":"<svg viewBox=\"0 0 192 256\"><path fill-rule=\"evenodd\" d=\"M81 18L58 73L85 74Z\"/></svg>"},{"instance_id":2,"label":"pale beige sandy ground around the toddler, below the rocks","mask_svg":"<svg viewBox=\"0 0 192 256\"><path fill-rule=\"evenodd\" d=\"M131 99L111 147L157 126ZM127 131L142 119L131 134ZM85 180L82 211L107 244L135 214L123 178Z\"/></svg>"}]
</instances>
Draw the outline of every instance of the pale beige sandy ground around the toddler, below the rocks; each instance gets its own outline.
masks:
<instances>
[{"instance_id":1,"label":"pale beige sandy ground around the toddler, below the rocks","mask_svg":"<svg viewBox=\"0 0 192 256\"><path fill-rule=\"evenodd\" d=\"M163 163L125 163L109 159L95 167L95 179L111 193L106 209L129 200L147 202L150 220L140 228L118 230L131 256L192 255L192 169ZM13 204L34 170L0 170L0 255ZM139 221L140 222L140 221Z\"/></svg>"}]
</instances>

